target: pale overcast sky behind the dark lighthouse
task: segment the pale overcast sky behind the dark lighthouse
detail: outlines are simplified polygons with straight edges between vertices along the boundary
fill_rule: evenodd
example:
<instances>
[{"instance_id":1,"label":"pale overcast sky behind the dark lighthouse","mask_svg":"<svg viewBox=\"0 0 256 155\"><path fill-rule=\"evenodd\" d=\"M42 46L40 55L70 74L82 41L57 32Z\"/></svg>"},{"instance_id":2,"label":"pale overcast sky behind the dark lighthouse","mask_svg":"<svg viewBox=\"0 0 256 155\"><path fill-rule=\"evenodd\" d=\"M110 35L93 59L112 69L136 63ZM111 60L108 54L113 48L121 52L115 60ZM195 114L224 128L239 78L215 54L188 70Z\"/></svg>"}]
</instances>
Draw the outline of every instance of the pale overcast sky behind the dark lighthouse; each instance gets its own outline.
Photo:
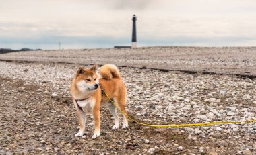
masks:
<instances>
[{"instance_id":1,"label":"pale overcast sky behind the dark lighthouse","mask_svg":"<svg viewBox=\"0 0 256 155\"><path fill-rule=\"evenodd\" d=\"M256 46L255 0L0 0L0 48Z\"/></svg>"}]
</instances>

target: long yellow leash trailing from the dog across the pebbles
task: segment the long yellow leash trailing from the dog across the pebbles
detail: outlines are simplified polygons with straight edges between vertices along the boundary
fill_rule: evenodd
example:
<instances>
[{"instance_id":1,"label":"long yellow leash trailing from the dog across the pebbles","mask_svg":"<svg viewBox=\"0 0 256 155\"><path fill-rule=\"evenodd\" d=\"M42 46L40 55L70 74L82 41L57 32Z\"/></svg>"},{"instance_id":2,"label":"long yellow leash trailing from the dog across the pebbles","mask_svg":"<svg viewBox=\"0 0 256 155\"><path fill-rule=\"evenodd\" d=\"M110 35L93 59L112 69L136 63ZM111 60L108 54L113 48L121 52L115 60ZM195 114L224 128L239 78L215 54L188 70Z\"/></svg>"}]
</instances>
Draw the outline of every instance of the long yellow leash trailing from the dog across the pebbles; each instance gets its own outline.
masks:
<instances>
[{"instance_id":1,"label":"long yellow leash trailing from the dog across the pebbles","mask_svg":"<svg viewBox=\"0 0 256 155\"><path fill-rule=\"evenodd\" d=\"M108 97L108 95L106 94L106 91L104 91L104 94L106 95L106 97ZM223 124L223 123L252 123L252 122L256 122L256 120L249 120L249 121L215 121L215 122L207 122L207 123L186 123L186 124L170 124L170 125L153 125L153 124L141 123L141 122L136 121L135 119L129 117L129 115L127 115L126 113L121 111L121 109L119 109L119 107L112 101L112 99L110 99L110 97L108 97L108 99L109 99L109 101L111 103L113 103L113 105L115 105L115 107L117 107L117 109L121 113L123 113L123 115L125 115L126 117L131 119L131 121L134 121L134 122L136 122L136 123L138 123L140 125L150 126L150 127L186 127L186 126L214 125L214 124Z\"/></svg>"}]
</instances>

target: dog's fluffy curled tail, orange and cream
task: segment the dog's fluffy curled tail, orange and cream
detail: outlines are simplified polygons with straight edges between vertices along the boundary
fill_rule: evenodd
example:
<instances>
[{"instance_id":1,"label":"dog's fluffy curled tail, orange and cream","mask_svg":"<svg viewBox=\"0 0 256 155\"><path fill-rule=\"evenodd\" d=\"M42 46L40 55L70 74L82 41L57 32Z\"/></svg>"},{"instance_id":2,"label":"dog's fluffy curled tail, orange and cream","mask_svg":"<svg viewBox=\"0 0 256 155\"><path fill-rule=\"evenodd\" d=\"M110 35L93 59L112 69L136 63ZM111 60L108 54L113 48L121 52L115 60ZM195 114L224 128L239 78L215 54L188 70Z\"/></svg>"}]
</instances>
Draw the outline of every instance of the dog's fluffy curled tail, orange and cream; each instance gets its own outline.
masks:
<instances>
[{"instance_id":1,"label":"dog's fluffy curled tail, orange and cream","mask_svg":"<svg viewBox=\"0 0 256 155\"><path fill-rule=\"evenodd\" d=\"M114 64L105 64L104 66L100 67L100 75L103 79L110 80L113 78L121 79L121 74Z\"/></svg>"}]
</instances>

